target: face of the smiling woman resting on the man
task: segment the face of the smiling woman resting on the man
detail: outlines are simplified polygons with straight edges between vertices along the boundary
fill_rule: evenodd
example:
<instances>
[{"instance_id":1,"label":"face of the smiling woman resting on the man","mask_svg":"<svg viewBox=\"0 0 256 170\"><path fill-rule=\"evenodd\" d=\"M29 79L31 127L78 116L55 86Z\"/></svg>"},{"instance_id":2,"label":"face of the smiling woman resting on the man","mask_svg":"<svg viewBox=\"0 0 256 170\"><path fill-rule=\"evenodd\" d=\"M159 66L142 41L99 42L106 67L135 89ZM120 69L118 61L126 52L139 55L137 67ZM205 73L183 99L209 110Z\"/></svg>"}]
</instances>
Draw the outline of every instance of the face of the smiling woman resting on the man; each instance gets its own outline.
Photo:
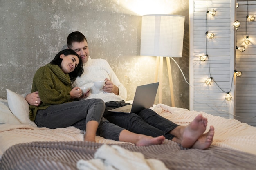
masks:
<instances>
[{"instance_id":1,"label":"face of the smiling woman resting on the man","mask_svg":"<svg viewBox=\"0 0 256 170\"><path fill-rule=\"evenodd\" d=\"M61 69L65 74L73 72L75 67L77 67L79 63L79 59L76 55L67 55L61 54L60 58L62 58Z\"/></svg>"}]
</instances>

